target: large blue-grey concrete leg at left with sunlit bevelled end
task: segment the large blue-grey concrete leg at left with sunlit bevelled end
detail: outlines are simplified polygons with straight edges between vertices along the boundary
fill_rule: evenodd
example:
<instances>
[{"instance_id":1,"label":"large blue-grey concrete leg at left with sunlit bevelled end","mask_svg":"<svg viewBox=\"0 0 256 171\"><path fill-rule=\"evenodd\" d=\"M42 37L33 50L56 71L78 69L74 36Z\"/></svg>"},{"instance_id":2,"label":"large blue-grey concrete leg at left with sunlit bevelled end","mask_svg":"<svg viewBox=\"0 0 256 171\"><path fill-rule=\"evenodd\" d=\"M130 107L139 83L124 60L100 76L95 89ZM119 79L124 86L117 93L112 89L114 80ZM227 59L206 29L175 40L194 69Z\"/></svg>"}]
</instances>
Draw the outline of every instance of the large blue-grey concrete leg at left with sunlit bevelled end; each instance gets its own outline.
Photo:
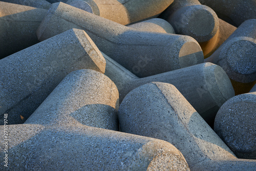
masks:
<instances>
[{"instance_id":1,"label":"large blue-grey concrete leg at left with sunlit bevelled end","mask_svg":"<svg viewBox=\"0 0 256 171\"><path fill-rule=\"evenodd\" d=\"M0 118L23 123L70 72L104 73L105 59L83 30L71 29L0 60ZM20 119L25 118L25 119Z\"/></svg>"}]
</instances>

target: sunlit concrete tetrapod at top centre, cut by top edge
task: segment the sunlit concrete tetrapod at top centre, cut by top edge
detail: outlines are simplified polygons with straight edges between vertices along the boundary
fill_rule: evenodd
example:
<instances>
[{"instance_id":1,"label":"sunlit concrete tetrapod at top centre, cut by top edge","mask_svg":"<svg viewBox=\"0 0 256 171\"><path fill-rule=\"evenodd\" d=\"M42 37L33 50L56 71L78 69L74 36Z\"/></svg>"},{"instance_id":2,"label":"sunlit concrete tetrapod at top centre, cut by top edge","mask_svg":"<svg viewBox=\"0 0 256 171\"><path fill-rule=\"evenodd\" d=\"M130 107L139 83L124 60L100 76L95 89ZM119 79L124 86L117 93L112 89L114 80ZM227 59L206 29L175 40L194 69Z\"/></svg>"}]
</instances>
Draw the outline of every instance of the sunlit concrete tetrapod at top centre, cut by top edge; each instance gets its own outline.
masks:
<instances>
[{"instance_id":1,"label":"sunlit concrete tetrapod at top centre, cut by top edge","mask_svg":"<svg viewBox=\"0 0 256 171\"><path fill-rule=\"evenodd\" d=\"M127 25L157 17L174 0L70 0L67 4Z\"/></svg>"}]
</instances>

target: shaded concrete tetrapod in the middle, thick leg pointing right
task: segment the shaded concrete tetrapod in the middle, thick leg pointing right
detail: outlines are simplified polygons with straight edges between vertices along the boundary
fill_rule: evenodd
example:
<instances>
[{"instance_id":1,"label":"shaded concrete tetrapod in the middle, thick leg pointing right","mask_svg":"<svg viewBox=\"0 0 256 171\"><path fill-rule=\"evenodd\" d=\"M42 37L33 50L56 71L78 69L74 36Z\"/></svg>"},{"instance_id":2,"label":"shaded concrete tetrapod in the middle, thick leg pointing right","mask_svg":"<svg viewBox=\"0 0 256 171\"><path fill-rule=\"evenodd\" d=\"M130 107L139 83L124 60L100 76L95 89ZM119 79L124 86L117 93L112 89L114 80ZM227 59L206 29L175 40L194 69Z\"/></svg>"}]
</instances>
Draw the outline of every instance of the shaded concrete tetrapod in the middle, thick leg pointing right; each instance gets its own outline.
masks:
<instances>
[{"instance_id":1,"label":"shaded concrete tetrapod in the middle, thick leg pointing right","mask_svg":"<svg viewBox=\"0 0 256 171\"><path fill-rule=\"evenodd\" d=\"M106 60L105 75L115 82L120 102L133 89L149 82L174 84L198 113L213 126L221 105L234 96L232 84L225 71L212 63L202 63L145 78L138 78L113 59Z\"/></svg>"}]
</instances>

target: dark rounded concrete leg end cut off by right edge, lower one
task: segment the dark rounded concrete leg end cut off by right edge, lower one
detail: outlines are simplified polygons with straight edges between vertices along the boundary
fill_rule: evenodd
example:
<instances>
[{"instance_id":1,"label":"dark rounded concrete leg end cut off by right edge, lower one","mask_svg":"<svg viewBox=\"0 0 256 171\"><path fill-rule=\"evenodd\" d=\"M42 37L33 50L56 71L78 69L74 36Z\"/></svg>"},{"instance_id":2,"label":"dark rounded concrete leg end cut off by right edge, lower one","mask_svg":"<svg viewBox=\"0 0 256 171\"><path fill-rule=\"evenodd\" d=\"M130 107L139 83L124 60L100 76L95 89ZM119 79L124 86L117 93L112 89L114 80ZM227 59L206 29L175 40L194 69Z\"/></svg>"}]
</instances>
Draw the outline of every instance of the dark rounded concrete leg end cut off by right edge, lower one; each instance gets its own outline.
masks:
<instances>
[{"instance_id":1,"label":"dark rounded concrete leg end cut off by right edge, lower one","mask_svg":"<svg viewBox=\"0 0 256 171\"><path fill-rule=\"evenodd\" d=\"M234 96L218 111L214 130L239 158L256 159L256 92Z\"/></svg>"}]
</instances>

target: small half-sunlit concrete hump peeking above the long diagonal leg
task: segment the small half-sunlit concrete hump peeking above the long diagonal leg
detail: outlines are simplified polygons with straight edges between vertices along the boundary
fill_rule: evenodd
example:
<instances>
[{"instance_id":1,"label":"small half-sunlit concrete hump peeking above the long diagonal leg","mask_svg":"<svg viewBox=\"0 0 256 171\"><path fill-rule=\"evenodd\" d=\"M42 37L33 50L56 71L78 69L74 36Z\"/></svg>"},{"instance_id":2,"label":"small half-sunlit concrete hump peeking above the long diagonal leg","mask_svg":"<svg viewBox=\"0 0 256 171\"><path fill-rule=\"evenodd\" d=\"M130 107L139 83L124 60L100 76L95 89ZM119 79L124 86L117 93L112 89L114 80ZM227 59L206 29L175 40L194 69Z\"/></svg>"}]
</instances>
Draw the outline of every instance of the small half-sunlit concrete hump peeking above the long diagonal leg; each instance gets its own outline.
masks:
<instances>
[{"instance_id":1,"label":"small half-sunlit concrete hump peeking above the long diagonal leg","mask_svg":"<svg viewBox=\"0 0 256 171\"><path fill-rule=\"evenodd\" d=\"M141 31L175 34L173 26L161 18L148 19L144 22L129 25L128 27Z\"/></svg>"}]
</instances>

